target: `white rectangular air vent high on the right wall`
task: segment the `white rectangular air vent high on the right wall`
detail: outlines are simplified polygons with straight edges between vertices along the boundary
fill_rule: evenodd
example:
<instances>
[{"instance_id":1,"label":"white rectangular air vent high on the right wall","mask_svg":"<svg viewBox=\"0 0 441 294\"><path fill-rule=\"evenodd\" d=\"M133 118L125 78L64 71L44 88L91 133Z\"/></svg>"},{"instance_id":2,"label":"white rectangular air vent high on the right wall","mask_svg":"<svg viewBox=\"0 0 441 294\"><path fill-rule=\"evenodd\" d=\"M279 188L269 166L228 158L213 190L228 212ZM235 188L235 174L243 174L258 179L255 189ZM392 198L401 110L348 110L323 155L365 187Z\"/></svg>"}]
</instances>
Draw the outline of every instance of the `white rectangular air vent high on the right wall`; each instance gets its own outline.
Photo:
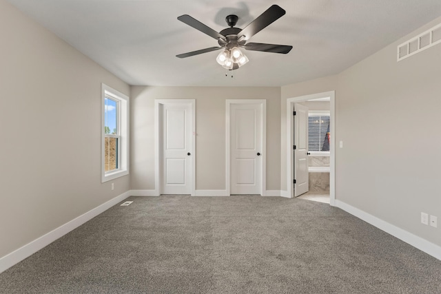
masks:
<instances>
[{"instance_id":1,"label":"white rectangular air vent high on the right wall","mask_svg":"<svg viewBox=\"0 0 441 294\"><path fill-rule=\"evenodd\" d=\"M441 23L419 34L415 38L398 45L397 61L412 56L422 50L426 50L427 48L431 48L438 43L441 43Z\"/></svg>"}]
</instances>

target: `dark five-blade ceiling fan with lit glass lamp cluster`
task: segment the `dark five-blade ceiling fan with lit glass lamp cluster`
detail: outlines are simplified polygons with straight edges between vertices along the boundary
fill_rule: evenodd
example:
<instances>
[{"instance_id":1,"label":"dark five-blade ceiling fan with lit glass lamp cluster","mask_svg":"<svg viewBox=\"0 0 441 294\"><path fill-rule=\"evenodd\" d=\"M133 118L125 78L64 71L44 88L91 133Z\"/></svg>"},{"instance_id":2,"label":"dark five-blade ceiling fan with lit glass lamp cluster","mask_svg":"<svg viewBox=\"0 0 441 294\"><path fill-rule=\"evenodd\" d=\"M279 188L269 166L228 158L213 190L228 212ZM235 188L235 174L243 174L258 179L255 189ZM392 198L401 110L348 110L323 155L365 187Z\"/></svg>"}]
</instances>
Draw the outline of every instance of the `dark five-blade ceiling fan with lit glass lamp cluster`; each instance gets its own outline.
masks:
<instances>
[{"instance_id":1,"label":"dark five-blade ceiling fan with lit glass lamp cluster","mask_svg":"<svg viewBox=\"0 0 441 294\"><path fill-rule=\"evenodd\" d=\"M216 39L219 46L178 54L176 57L182 59L189 56L223 49L223 51L218 54L216 61L227 70L237 70L240 66L248 62L247 56L245 56L245 54L243 54L239 48L245 48L245 50L252 51L287 54L289 51L291 51L292 46L266 43L247 43L252 36L266 28L280 17L283 17L285 13L286 12L283 10L283 8L273 5L265 12L260 14L260 16L258 16L256 19L254 19L254 21L249 23L244 29L234 28L234 25L236 25L238 21L238 17L234 14L230 14L225 18L229 28L221 30L220 32L216 32L212 28L207 27L207 25L197 21L193 17L190 17L188 14L181 15L181 17L178 17L178 20Z\"/></svg>"}]
</instances>

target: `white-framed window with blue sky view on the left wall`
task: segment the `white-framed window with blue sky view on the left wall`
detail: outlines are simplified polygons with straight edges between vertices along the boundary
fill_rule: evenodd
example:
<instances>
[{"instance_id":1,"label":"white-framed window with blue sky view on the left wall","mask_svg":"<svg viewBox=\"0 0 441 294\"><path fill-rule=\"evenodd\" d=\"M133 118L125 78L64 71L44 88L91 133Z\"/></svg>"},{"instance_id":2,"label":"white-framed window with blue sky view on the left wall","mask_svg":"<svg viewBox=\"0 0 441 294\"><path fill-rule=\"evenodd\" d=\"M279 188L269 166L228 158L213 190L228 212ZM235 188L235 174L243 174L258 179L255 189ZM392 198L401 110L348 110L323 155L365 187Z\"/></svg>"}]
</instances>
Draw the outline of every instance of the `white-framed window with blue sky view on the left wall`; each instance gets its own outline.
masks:
<instances>
[{"instance_id":1,"label":"white-framed window with blue sky view on the left wall","mask_svg":"<svg viewBox=\"0 0 441 294\"><path fill-rule=\"evenodd\" d=\"M101 182L129 174L129 98L102 84Z\"/></svg>"}]
</instances>

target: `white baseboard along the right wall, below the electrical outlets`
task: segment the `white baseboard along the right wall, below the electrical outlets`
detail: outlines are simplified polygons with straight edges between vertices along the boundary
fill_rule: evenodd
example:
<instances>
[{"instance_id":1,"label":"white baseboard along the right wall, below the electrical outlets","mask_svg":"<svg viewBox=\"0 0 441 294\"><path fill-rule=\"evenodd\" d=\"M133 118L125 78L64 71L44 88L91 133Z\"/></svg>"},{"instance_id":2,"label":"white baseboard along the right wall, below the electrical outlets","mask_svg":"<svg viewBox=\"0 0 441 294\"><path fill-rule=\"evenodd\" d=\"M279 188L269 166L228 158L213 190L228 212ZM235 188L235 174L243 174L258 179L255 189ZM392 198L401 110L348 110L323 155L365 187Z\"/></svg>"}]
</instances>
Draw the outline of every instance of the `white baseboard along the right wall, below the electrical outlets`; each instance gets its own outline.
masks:
<instances>
[{"instance_id":1,"label":"white baseboard along the right wall, below the electrical outlets","mask_svg":"<svg viewBox=\"0 0 441 294\"><path fill-rule=\"evenodd\" d=\"M351 205L346 204L345 202L342 202L340 200L335 200L335 206L343 209L344 211L347 211L348 213L351 213L351 215L356 216L357 218L360 218L361 220L364 220L369 224L372 224L374 227L377 227L378 229L393 235L394 237L406 242L407 244L411 244L421 251L432 255L434 258L441 260L441 246L433 244L432 242L418 237L417 235L413 235L413 233L404 231L403 229L400 229L393 224L389 224L389 222L380 220L380 218L376 218L375 216L372 216L371 214L362 211L356 207L352 207Z\"/></svg>"}]
</instances>

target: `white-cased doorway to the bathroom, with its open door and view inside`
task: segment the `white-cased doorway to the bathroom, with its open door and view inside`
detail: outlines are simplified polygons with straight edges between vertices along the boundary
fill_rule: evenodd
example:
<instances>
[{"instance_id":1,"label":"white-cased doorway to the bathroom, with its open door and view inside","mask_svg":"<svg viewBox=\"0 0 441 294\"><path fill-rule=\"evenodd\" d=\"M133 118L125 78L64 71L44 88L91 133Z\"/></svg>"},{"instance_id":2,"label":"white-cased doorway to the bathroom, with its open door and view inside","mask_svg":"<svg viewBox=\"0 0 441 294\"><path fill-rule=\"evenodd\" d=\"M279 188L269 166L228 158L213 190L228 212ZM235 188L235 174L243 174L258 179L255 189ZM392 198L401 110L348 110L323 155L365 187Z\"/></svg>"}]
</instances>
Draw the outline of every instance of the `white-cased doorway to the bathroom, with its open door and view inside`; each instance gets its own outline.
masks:
<instances>
[{"instance_id":1,"label":"white-cased doorway to the bathroom, with its open door and view inside","mask_svg":"<svg viewBox=\"0 0 441 294\"><path fill-rule=\"evenodd\" d=\"M287 99L287 174L290 197L334 204L334 97L333 91ZM301 109L300 114L307 109L306 118L296 118L296 107ZM305 124L299 123L299 120L307 120L306 126L303 127ZM305 140L299 139L299 134L305 137L306 147L302 147Z\"/></svg>"}]
</instances>

